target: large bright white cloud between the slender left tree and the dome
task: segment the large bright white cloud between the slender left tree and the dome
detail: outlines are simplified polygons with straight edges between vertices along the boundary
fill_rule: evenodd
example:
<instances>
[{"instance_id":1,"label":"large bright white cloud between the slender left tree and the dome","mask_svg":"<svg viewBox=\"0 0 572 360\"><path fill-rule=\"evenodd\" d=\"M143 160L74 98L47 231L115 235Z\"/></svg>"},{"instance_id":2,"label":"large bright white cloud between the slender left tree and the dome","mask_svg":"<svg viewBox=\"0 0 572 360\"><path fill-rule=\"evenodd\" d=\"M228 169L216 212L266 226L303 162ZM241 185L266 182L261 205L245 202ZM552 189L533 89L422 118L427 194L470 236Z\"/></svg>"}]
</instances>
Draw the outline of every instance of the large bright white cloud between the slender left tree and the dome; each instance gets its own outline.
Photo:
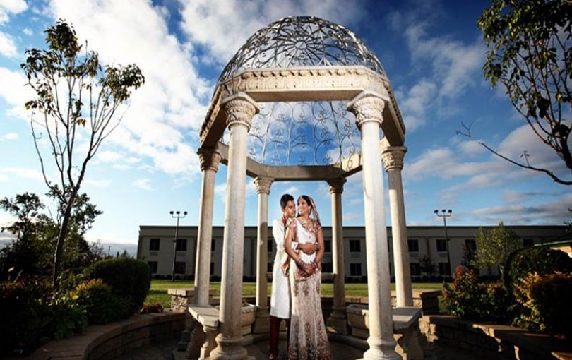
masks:
<instances>
[{"instance_id":1,"label":"large bright white cloud between the slender left tree and the dome","mask_svg":"<svg viewBox=\"0 0 572 360\"><path fill-rule=\"evenodd\" d=\"M212 84L201 78L191 54L169 33L165 8L145 0L54 0L51 6L52 16L73 23L102 61L135 63L143 71L145 85L133 92L109 143L152 160L154 168L169 174L197 174L196 149L184 134L200 128Z\"/></svg>"}]
</instances>

